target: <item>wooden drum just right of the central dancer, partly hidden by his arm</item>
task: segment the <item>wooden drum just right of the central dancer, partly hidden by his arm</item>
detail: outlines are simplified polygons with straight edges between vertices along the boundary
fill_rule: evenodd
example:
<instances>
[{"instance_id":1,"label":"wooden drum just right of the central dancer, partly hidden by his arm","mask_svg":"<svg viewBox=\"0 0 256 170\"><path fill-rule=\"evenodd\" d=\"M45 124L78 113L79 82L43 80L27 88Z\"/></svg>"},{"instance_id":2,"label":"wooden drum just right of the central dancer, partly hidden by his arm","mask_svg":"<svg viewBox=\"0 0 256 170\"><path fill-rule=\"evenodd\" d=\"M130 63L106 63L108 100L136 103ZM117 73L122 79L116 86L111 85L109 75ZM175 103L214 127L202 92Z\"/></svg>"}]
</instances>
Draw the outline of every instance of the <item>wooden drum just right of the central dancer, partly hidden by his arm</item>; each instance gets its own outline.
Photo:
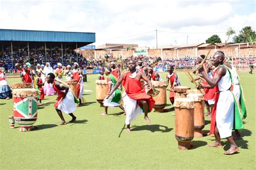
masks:
<instances>
[{"instance_id":1,"label":"wooden drum just right of the central dancer, partly hidden by his arm","mask_svg":"<svg viewBox=\"0 0 256 170\"><path fill-rule=\"evenodd\" d=\"M159 90L160 93L153 97L154 103L154 111L156 112L164 112L164 108L166 107L166 87L167 83L165 81L151 81L154 89Z\"/></svg>"}]
</instances>

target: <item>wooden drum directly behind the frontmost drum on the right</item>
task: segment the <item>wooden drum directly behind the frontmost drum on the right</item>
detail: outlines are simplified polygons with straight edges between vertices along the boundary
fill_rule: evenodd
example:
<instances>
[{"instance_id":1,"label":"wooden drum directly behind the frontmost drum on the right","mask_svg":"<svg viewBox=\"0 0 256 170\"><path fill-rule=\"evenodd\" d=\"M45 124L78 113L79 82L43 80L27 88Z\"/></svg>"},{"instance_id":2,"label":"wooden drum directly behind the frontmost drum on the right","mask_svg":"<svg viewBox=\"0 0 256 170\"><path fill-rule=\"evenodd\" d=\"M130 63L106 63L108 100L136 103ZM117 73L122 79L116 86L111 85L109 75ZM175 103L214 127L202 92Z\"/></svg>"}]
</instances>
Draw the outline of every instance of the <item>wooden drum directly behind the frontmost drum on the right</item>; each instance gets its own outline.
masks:
<instances>
[{"instance_id":1,"label":"wooden drum directly behind the frontmost drum on the right","mask_svg":"<svg viewBox=\"0 0 256 170\"><path fill-rule=\"evenodd\" d=\"M187 98L194 100L194 137L203 137L205 127L204 96L202 94L188 94Z\"/></svg>"}]
</instances>

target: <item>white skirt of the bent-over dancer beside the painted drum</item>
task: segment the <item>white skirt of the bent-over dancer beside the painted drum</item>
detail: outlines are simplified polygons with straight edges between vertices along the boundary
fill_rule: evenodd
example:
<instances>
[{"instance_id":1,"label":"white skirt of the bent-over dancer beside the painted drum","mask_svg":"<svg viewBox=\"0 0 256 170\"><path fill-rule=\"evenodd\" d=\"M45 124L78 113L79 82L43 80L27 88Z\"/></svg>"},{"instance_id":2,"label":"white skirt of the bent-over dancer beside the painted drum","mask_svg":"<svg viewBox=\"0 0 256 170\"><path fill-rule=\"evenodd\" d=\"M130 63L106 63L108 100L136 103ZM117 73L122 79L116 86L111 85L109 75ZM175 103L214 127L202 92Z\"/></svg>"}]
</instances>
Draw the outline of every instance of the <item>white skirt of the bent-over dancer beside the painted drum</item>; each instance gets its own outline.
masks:
<instances>
[{"instance_id":1,"label":"white skirt of the bent-over dancer beside the painted drum","mask_svg":"<svg viewBox=\"0 0 256 170\"><path fill-rule=\"evenodd\" d=\"M65 112L65 114L71 114L72 112L76 111L76 103L74 101L74 96L70 89L68 94L66 94L66 97L59 103L57 108Z\"/></svg>"}]
</instances>

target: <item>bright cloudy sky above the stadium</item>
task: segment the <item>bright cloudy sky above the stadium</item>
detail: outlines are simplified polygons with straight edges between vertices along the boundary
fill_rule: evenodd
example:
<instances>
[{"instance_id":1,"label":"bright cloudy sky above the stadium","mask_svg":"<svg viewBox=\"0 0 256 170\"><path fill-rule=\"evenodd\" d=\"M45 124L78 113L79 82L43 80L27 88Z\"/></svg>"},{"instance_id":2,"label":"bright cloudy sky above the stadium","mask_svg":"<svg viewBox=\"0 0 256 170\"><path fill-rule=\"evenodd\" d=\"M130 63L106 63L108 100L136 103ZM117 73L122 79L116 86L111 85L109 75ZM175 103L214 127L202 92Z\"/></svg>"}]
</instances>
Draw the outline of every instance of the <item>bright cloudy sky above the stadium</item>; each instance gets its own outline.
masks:
<instances>
[{"instance_id":1,"label":"bright cloudy sky above the stadium","mask_svg":"<svg viewBox=\"0 0 256 170\"><path fill-rule=\"evenodd\" d=\"M205 42L228 27L255 26L255 1L0 0L0 29L96 32L95 45ZM237 31L239 33L239 31Z\"/></svg>"}]
</instances>

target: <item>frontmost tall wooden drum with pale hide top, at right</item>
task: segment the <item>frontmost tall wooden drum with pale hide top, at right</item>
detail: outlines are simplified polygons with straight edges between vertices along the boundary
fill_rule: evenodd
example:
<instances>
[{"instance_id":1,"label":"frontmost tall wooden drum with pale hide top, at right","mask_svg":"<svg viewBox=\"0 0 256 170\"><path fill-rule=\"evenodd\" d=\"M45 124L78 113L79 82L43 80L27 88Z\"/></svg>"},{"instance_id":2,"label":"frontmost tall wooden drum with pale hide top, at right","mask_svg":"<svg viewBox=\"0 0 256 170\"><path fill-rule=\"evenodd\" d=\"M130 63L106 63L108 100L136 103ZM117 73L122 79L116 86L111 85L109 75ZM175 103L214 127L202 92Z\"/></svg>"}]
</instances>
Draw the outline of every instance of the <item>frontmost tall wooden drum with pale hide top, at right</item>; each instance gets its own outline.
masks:
<instances>
[{"instance_id":1,"label":"frontmost tall wooden drum with pale hide top, at right","mask_svg":"<svg viewBox=\"0 0 256 170\"><path fill-rule=\"evenodd\" d=\"M194 101L191 98L176 98L173 107L178 148L188 150L194 138Z\"/></svg>"}]
</instances>

